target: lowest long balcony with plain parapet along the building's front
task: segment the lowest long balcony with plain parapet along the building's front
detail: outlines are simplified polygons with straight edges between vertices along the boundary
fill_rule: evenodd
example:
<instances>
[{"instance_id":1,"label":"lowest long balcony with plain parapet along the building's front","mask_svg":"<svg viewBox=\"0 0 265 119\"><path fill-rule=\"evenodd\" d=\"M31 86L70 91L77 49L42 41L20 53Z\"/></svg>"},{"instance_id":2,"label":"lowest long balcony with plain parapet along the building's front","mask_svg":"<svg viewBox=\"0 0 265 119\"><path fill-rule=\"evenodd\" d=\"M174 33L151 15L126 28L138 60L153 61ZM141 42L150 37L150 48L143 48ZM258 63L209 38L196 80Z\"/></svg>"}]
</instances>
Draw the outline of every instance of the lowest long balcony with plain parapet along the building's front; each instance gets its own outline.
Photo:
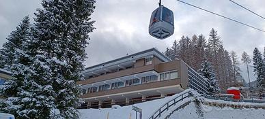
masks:
<instances>
[{"instance_id":1,"label":"lowest long balcony with plain parapet along the building's front","mask_svg":"<svg viewBox=\"0 0 265 119\"><path fill-rule=\"evenodd\" d=\"M171 94L181 92L180 78L172 80L163 80L158 82L150 82L147 84L139 84L135 86L126 86L101 92L92 92L83 95L82 99L92 100L109 100L124 99L124 97L139 97L139 95L160 95L161 93Z\"/></svg>"}]
</instances>

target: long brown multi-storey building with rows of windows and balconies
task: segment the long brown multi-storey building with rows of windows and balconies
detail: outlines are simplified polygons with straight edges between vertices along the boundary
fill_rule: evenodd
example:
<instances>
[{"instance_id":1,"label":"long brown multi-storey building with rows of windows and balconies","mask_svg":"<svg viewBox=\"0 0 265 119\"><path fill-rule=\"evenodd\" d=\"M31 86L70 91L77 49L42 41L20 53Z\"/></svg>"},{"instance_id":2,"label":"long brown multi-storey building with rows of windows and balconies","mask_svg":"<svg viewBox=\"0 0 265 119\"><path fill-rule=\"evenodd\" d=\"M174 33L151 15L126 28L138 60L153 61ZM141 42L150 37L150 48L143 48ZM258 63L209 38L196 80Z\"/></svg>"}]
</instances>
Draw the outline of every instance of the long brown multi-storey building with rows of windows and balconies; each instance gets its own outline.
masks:
<instances>
[{"instance_id":1,"label":"long brown multi-storey building with rows of windows and balconies","mask_svg":"<svg viewBox=\"0 0 265 119\"><path fill-rule=\"evenodd\" d=\"M174 95L186 88L208 91L202 78L181 60L171 61L152 48L87 67L81 84L82 107L130 105Z\"/></svg>"}]
</instances>

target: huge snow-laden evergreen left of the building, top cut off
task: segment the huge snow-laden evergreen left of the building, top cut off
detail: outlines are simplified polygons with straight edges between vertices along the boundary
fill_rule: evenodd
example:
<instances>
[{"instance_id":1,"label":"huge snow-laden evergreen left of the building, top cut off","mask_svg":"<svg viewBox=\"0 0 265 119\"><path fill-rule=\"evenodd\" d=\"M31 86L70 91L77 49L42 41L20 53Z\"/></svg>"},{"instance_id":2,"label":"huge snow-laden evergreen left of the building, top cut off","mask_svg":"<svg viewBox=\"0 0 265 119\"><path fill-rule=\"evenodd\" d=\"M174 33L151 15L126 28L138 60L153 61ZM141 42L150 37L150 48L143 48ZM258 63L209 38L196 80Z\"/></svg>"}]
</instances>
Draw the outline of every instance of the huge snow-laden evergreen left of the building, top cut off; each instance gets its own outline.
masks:
<instances>
[{"instance_id":1,"label":"huge snow-laden evergreen left of the building, top cut off","mask_svg":"<svg viewBox=\"0 0 265 119\"><path fill-rule=\"evenodd\" d=\"M16 50L14 78L3 86L9 97L1 110L17 118L79 118L90 16L94 0L44 0L25 50ZM14 94L8 94L8 90ZM6 91L5 91L6 90Z\"/></svg>"}]
</instances>

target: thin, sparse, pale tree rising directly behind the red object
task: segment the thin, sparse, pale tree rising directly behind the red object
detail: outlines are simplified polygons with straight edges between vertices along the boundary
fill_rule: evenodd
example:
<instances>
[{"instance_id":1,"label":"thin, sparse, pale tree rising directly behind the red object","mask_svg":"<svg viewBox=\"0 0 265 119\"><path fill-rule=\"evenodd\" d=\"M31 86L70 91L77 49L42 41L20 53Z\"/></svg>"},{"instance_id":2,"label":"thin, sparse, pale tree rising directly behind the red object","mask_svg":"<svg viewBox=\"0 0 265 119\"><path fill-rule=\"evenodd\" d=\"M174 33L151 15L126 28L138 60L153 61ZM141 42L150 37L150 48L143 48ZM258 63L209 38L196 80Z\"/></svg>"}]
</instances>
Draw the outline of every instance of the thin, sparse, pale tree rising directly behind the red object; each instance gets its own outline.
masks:
<instances>
[{"instance_id":1,"label":"thin, sparse, pale tree rising directly behind the red object","mask_svg":"<svg viewBox=\"0 0 265 119\"><path fill-rule=\"evenodd\" d=\"M235 86L237 86L238 85L237 81L242 76L240 74L240 71L241 71L239 67L240 63L238 61L238 56L236 55L236 52L234 51L231 52L231 58L232 58L232 65L233 65L233 71L234 71L234 79L235 79L234 82L235 82Z\"/></svg>"}]
</instances>

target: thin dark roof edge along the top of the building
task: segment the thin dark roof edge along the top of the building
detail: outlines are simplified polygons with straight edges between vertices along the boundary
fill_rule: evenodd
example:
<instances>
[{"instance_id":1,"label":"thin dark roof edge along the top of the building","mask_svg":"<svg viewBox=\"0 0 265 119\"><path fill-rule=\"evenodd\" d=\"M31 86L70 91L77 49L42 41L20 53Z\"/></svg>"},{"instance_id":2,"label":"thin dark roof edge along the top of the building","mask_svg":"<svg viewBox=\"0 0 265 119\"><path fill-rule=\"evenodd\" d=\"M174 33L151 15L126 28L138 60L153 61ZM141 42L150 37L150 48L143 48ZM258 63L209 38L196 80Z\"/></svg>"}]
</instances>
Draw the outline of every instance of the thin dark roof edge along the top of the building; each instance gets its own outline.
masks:
<instances>
[{"instance_id":1,"label":"thin dark roof edge along the top of the building","mask_svg":"<svg viewBox=\"0 0 265 119\"><path fill-rule=\"evenodd\" d=\"M92 66L92 67L87 67L87 68L85 68L85 70L87 70L87 69L92 69L92 68L94 68L94 67L99 67L99 66L102 66L102 65L104 65L104 64L113 63L113 62L115 62L115 61L120 61L120 60L123 60L123 59L125 59L125 58L130 58L130 57L132 57L132 56L136 56L136 55L143 54L143 53L146 53L146 52L152 52L152 51L155 51L155 52L157 52L158 54L161 54L161 56L163 56L163 57L166 58L167 60L171 61L170 58L168 58L168 57L165 56L163 53L161 53L161 52L159 52L158 50L156 50L156 48L150 48L150 49L148 49L148 50L144 50L144 51L142 51L142 52L137 52L137 53L135 53L135 54L130 54L130 55L127 55L127 56L124 56L124 57L121 57L121 58L117 58L117 59L115 59L115 60L113 60L113 61L107 61L107 62L105 62L105 63L100 63L100 64L98 64L98 65L94 65L94 66Z\"/></svg>"}]
</instances>

